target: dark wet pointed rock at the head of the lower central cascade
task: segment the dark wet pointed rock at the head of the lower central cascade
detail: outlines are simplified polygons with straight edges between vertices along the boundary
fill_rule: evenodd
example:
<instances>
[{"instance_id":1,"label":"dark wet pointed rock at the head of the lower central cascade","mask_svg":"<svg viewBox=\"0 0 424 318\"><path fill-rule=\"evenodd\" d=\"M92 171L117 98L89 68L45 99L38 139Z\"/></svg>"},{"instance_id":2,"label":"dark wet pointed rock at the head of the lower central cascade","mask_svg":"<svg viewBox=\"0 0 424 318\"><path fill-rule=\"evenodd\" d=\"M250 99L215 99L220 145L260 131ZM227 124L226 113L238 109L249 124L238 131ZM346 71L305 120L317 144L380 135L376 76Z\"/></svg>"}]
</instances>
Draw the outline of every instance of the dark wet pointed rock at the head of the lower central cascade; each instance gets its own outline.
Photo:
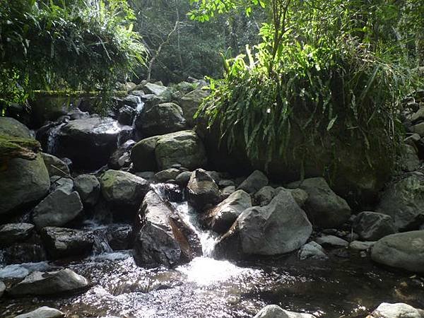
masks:
<instances>
[{"instance_id":1,"label":"dark wet pointed rock at the head of the lower central cascade","mask_svg":"<svg viewBox=\"0 0 424 318\"><path fill-rule=\"evenodd\" d=\"M196 169L187 184L188 201L198 212L218 204L220 192L212 177L203 169Z\"/></svg>"}]
</instances>

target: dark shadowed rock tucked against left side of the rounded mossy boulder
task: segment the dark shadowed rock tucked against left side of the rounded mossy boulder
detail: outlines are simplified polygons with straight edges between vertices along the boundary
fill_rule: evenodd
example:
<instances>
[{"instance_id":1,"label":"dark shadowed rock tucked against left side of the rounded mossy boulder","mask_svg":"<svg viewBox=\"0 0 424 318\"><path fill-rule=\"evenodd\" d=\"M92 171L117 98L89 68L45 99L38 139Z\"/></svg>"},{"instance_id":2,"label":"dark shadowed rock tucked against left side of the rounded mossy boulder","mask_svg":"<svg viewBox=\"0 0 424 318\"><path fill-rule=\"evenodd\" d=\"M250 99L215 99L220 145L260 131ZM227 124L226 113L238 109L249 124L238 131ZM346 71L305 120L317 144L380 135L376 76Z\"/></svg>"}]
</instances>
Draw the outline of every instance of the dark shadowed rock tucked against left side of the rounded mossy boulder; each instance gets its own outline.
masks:
<instances>
[{"instance_id":1,"label":"dark shadowed rock tucked against left side of the rounded mossy boulder","mask_svg":"<svg viewBox=\"0 0 424 318\"><path fill-rule=\"evenodd\" d=\"M131 149L131 161L136 171L158 170L155 148L160 136L153 136L136 143Z\"/></svg>"}]
</instances>

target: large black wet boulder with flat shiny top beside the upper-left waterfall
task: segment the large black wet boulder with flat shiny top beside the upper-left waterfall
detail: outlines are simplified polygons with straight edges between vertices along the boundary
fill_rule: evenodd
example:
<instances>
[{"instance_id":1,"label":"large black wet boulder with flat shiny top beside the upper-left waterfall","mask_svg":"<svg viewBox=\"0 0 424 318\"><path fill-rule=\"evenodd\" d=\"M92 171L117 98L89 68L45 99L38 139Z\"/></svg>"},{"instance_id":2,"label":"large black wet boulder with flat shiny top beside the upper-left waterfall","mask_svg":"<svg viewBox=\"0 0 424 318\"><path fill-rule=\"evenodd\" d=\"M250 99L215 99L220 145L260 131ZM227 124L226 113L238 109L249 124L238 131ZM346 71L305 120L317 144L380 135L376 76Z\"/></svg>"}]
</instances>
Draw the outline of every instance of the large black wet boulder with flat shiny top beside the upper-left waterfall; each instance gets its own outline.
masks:
<instances>
[{"instance_id":1,"label":"large black wet boulder with flat shiny top beside the upper-left waterfall","mask_svg":"<svg viewBox=\"0 0 424 318\"><path fill-rule=\"evenodd\" d=\"M109 160L120 131L112 118L71 120L59 131L57 155L70 158L75 167L96 169Z\"/></svg>"}]
</instances>

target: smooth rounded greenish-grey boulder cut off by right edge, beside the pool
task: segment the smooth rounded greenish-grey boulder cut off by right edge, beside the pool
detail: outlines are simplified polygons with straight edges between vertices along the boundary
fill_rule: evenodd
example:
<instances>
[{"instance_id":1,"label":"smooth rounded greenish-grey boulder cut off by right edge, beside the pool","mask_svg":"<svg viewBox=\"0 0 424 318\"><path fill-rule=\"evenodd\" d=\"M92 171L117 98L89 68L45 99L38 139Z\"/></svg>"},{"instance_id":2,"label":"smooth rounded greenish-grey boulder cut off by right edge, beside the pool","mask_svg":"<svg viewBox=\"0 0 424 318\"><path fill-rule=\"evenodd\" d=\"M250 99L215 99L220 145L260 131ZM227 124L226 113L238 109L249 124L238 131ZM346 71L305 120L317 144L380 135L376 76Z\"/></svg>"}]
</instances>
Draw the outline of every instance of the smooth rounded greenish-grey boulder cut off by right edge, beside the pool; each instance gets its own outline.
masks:
<instances>
[{"instance_id":1,"label":"smooth rounded greenish-grey boulder cut off by right edge, beside the pool","mask_svg":"<svg viewBox=\"0 0 424 318\"><path fill-rule=\"evenodd\" d=\"M424 230L383 237L372 247L371 258L387 266L424 273Z\"/></svg>"}]
</instances>

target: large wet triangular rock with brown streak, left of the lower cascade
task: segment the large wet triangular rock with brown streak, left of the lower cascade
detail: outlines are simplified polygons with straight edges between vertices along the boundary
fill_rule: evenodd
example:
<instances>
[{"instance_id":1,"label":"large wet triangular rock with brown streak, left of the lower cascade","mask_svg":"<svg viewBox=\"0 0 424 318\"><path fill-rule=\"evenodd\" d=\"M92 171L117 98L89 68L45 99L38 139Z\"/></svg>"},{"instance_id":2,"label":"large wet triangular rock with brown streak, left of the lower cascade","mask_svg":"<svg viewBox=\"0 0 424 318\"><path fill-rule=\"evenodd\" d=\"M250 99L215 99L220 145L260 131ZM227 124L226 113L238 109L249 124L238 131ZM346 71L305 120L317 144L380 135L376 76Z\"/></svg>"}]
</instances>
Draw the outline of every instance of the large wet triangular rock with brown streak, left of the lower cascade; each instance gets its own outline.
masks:
<instances>
[{"instance_id":1,"label":"large wet triangular rock with brown streak, left of the lower cascade","mask_svg":"<svg viewBox=\"0 0 424 318\"><path fill-rule=\"evenodd\" d=\"M155 192L146 194L140 218L134 245L140 266L172 267L201 255L199 237Z\"/></svg>"}]
</instances>

